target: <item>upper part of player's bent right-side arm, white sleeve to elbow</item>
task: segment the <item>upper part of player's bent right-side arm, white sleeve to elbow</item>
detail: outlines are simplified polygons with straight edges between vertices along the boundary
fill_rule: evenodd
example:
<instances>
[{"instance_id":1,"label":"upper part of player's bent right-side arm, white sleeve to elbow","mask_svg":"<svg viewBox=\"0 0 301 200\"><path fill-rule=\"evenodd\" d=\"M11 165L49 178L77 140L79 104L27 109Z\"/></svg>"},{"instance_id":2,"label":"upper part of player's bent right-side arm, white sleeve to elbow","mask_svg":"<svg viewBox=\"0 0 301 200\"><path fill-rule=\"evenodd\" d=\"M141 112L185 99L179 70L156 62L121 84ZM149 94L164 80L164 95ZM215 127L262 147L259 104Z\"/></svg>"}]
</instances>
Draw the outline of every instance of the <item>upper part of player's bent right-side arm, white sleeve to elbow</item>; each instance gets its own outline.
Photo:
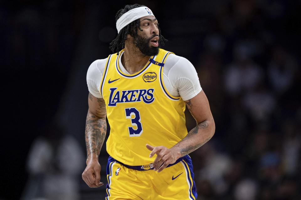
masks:
<instances>
[{"instance_id":1,"label":"upper part of player's bent right-side arm, white sleeve to elbow","mask_svg":"<svg viewBox=\"0 0 301 200\"><path fill-rule=\"evenodd\" d=\"M197 123L201 123L205 120L213 121L213 116L210 111L208 99L202 90L195 97L184 101Z\"/></svg>"}]
</instances>

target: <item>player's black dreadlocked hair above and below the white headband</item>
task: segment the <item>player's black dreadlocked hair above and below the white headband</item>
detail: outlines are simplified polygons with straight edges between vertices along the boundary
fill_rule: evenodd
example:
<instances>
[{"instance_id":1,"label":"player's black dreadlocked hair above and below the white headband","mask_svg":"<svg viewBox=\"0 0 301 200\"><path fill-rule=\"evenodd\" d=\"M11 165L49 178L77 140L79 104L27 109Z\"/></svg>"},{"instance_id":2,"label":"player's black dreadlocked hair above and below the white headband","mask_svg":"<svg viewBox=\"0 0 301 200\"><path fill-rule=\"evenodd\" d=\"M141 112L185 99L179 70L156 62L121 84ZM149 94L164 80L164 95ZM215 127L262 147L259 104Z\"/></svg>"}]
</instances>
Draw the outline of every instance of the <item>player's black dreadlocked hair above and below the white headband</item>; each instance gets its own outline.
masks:
<instances>
[{"instance_id":1,"label":"player's black dreadlocked hair above and below the white headband","mask_svg":"<svg viewBox=\"0 0 301 200\"><path fill-rule=\"evenodd\" d=\"M139 4L126 5L123 9L120 9L117 12L116 18L115 18L116 22L119 19L119 17L121 17L124 13L128 12L131 9L142 7L142 6L144 6L144 5L139 5ZM137 34L137 30L138 29L140 31L143 31L140 28L140 19L136 19L135 21L133 21L133 22L129 23L128 25L126 25L124 28L122 28L119 31L117 37L110 43L110 47L109 47L110 50L113 53L116 53L116 52L119 53L122 49L124 49L124 41L126 40L127 35L129 34L132 37L137 37L138 36L138 34ZM158 29L159 29L159 38L160 38L160 40L158 41L158 43L159 43L159 47L161 47L161 46L164 46L165 45L164 42L167 42L168 40L166 40L161 35L161 30L160 30L159 27L158 27Z\"/></svg>"}]
</instances>

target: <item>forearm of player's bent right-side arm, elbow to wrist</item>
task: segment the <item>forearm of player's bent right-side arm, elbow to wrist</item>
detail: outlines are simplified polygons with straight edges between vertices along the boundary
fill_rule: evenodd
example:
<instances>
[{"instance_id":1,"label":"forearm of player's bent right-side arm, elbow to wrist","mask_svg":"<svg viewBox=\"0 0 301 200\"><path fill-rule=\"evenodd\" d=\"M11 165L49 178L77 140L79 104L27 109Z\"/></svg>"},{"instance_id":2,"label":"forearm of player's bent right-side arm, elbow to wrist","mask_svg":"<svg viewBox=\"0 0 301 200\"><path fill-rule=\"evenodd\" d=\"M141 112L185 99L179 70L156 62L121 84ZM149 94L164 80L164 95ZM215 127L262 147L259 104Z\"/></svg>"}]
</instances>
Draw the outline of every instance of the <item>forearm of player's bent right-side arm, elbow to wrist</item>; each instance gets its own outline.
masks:
<instances>
[{"instance_id":1,"label":"forearm of player's bent right-side arm, elbow to wrist","mask_svg":"<svg viewBox=\"0 0 301 200\"><path fill-rule=\"evenodd\" d=\"M214 120L205 120L189 131L186 137L175 144L171 149L177 152L178 158L183 157L208 142L214 135L214 131Z\"/></svg>"}]
</instances>

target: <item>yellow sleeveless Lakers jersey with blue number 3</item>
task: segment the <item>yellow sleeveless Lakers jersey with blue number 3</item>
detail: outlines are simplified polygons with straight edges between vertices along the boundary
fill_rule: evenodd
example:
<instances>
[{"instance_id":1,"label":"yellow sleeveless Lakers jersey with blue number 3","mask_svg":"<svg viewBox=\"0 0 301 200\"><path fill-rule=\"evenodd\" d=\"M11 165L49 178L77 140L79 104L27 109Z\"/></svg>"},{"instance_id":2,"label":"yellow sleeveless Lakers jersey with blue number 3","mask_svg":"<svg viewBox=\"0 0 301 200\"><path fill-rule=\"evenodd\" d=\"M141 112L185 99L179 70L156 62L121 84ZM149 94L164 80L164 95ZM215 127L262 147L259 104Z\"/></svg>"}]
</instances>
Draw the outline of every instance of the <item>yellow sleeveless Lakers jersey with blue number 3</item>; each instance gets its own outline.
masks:
<instances>
[{"instance_id":1,"label":"yellow sleeveless Lakers jersey with blue number 3","mask_svg":"<svg viewBox=\"0 0 301 200\"><path fill-rule=\"evenodd\" d=\"M145 144L171 148L187 135L185 103L164 87L162 72L171 52L160 49L135 74L121 72L121 52L109 55L100 86L111 128L107 152L126 165L147 165L154 158Z\"/></svg>"}]
</instances>

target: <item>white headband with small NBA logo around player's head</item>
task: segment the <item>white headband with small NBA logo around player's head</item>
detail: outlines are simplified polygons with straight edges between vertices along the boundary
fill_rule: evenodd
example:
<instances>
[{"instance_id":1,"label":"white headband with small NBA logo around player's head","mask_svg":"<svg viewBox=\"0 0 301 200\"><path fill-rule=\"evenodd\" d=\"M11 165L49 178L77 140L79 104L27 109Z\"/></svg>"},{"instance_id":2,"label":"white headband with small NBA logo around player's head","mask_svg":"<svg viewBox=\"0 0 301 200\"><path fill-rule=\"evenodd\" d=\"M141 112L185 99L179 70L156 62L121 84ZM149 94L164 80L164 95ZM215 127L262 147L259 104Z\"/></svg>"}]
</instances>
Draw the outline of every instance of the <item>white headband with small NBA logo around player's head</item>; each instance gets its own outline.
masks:
<instances>
[{"instance_id":1,"label":"white headband with small NBA logo around player's head","mask_svg":"<svg viewBox=\"0 0 301 200\"><path fill-rule=\"evenodd\" d=\"M145 6L129 10L128 12L124 13L116 22L116 28L118 33L123 27L128 25L130 22L134 22L136 19L149 15L155 17L153 12L151 12L151 10Z\"/></svg>"}]
</instances>

